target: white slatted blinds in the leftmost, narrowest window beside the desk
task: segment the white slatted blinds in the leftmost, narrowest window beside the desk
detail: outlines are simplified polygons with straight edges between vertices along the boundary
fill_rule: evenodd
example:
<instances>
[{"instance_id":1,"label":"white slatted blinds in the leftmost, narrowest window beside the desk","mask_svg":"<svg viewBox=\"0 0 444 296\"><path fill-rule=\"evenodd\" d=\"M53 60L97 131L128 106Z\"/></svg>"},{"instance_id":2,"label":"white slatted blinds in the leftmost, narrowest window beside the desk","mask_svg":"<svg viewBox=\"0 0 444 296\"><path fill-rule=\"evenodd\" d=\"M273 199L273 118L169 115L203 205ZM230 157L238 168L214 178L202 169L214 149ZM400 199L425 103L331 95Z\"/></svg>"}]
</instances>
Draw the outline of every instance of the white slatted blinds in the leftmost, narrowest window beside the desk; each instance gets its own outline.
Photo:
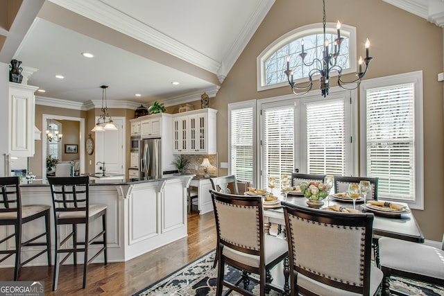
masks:
<instances>
[{"instance_id":1,"label":"white slatted blinds in the leftmost, narrowest window beside the desk","mask_svg":"<svg viewBox=\"0 0 444 296\"><path fill-rule=\"evenodd\" d=\"M253 182L253 107L230 111L230 173Z\"/></svg>"}]
</instances>

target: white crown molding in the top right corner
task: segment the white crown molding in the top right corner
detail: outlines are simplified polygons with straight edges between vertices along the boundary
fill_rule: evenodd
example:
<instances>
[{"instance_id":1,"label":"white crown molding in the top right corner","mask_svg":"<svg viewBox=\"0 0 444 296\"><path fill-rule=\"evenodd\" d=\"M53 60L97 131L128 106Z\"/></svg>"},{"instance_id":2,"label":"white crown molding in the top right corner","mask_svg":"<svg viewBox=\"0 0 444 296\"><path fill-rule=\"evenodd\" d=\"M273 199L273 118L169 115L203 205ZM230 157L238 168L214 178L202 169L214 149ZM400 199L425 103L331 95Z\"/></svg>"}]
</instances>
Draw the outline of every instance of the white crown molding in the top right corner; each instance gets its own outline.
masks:
<instances>
[{"instance_id":1,"label":"white crown molding in the top right corner","mask_svg":"<svg viewBox=\"0 0 444 296\"><path fill-rule=\"evenodd\" d=\"M436 26L444 27L443 0L383 0L393 6L427 19Z\"/></svg>"}]
</instances>

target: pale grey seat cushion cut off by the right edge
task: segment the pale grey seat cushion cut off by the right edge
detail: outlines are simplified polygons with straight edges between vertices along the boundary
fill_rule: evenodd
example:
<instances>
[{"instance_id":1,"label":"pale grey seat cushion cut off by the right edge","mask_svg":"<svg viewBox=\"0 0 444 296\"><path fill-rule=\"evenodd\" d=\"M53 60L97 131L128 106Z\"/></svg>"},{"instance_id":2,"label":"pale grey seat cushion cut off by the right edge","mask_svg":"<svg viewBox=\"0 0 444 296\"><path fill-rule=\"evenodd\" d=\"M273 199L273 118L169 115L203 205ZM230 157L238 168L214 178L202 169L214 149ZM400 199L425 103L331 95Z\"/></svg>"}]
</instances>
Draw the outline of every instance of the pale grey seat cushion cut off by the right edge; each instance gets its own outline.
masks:
<instances>
[{"instance_id":1,"label":"pale grey seat cushion cut off by the right edge","mask_svg":"<svg viewBox=\"0 0 444 296\"><path fill-rule=\"evenodd\" d=\"M382 267L444 280L444 251L422 243L379 238Z\"/></svg>"}]
</instances>

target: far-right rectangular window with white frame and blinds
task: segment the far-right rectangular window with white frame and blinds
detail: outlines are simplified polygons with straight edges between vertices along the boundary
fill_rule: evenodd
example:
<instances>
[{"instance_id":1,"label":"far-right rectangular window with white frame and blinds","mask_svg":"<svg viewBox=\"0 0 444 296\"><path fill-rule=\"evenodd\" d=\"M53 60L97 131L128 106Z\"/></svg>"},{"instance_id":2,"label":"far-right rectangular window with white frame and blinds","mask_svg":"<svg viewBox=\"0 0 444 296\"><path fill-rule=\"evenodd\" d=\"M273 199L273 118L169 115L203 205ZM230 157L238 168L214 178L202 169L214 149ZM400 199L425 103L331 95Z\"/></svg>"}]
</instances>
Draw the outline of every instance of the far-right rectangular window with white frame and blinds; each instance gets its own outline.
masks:
<instances>
[{"instance_id":1,"label":"far-right rectangular window with white frame and blinds","mask_svg":"<svg viewBox=\"0 0 444 296\"><path fill-rule=\"evenodd\" d=\"M361 83L361 172L381 199L422 209L422 72Z\"/></svg>"}]
</instances>

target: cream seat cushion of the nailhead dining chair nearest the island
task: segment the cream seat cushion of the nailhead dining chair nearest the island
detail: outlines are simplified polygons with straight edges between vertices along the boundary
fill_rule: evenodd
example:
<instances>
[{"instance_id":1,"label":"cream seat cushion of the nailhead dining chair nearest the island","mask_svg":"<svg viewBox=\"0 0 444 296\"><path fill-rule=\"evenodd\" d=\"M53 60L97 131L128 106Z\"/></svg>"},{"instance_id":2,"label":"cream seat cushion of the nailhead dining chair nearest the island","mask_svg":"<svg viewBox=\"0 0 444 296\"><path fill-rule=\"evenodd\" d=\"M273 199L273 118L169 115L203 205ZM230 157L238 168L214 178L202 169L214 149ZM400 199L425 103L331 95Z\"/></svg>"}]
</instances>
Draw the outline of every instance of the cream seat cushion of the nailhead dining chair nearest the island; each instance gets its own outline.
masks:
<instances>
[{"instance_id":1,"label":"cream seat cushion of the nailhead dining chair nearest the island","mask_svg":"<svg viewBox=\"0 0 444 296\"><path fill-rule=\"evenodd\" d=\"M282 256L282 254L287 253L289 250L287 241L271 235L264 235L264 245L265 265L275 261L279 256ZM237 250L233 250L226 245L223 247L223 255L234 261L253 267L259 267L259 256L245 254Z\"/></svg>"}]
</instances>

